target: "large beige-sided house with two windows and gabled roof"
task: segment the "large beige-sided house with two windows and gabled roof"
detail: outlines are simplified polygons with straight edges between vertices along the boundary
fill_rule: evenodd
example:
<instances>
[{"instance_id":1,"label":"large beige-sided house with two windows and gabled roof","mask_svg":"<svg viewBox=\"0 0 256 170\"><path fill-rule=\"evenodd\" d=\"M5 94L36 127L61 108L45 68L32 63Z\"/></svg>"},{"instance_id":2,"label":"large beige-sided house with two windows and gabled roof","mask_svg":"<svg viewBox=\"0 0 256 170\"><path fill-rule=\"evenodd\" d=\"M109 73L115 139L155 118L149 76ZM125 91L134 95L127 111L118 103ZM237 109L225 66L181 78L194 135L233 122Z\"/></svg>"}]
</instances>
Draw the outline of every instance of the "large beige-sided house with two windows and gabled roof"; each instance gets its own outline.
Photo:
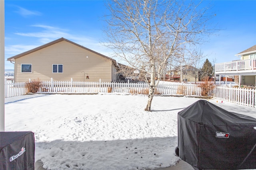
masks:
<instances>
[{"instance_id":1,"label":"large beige-sided house with two windows and gabled roof","mask_svg":"<svg viewBox=\"0 0 256 170\"><path fill-rule=\"evenodd\" d=\"M14 81L116 81L114 59L60 38L7 59L14 63Z\"/></svg>"}]
</instances>

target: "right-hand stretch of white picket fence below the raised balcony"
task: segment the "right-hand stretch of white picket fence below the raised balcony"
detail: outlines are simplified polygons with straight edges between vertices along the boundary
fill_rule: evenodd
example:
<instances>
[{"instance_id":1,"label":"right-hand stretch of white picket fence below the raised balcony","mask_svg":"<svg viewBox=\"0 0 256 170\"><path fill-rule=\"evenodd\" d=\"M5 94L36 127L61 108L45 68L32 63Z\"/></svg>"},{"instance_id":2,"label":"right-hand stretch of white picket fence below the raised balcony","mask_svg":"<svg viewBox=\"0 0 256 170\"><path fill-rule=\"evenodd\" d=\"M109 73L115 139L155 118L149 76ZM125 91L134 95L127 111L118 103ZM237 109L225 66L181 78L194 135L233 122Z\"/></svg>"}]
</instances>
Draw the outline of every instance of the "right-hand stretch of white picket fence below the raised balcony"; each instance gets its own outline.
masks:
<instances>
[{"instance_id":1,"label":"right-hand stretch of white picket fence below the raised balcony","mask_svg":"<svg viewBox=\"0 0 256 170\"><path fill-rule=\"evenodd\" d=\"M235 88L231 84L229 86L216 86L213 97L218 100L256 107L256 90L252 88Z\"/></svg>"}]
</instances>

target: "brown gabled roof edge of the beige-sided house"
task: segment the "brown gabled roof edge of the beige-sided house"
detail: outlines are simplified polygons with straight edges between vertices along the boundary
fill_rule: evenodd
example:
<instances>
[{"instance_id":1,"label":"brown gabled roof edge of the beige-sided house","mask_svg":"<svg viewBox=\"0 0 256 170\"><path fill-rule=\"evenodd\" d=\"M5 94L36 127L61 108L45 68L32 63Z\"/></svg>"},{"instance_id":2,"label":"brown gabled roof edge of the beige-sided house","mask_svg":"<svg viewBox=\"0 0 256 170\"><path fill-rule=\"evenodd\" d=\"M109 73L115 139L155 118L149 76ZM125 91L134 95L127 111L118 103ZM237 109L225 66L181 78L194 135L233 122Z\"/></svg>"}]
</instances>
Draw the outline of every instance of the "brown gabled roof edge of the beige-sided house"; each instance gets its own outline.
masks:
<instances>
[{"instance_id":1,"label":"brown gabled roof edge of the beige-sided house","mask_svg":"<svg viewBox=\"0 0 256 170\"><path fill-rule=\"evenodd\" d=\"M41 45L41 46L39 46L39 47L36 47L36 48L34 48L34 49L31 49L31 50L29 50L29 51L26 51L26 52L24 52L24 53L20 53L20 54L18 54L18 55L15 55L15 56L13 56L13 57L10 57L10 58L7 59L7 61L15 61L15 59L18 59L18 58L20 58L20 57L23 57L24 55L28 55L28 54L30 54L30 53L34 53L35 51L38 51L38 50L40 50L40 49L44 49L44 48L46 48L46 47L49 47L50 45L54 45L54 44L59 43L59 42L61 42L61 41L67 41L67 42L69 42L69 43L72 43L72 44L74 44L74 45L77 45L78 47L81 47L81 48L83 48L83 49L86 49L86 50L88 50L88 51L91 51L92 53L95 53L95 54L100 55L100 56L102 56L102 57L104 57L104 58L106 58L106 59L109 59L109 60L113 61L115 65L117 65L117 64L116 64L116 61L115 61L114 59L111 59L110 57L107 57L107 56L105 56L105 55L102 55L102 54L100 54L100 53L97 53L96 51L93 51L93 50L91 50L91 49L88 49L88 48L86 48L86 47L84 47L84 46L82 46L82 45L79 45L79 44L77 44L77 43L74 43L74 42L72 42L72 41L70 41L70 40L68 40L68 39L63 38L63 37L60 38L60 39L57 39L57 40L55 40L55 41L52 41L52 42L50 42L50 43L47 43L47 44Z\"/></svg>"}]
</instances>

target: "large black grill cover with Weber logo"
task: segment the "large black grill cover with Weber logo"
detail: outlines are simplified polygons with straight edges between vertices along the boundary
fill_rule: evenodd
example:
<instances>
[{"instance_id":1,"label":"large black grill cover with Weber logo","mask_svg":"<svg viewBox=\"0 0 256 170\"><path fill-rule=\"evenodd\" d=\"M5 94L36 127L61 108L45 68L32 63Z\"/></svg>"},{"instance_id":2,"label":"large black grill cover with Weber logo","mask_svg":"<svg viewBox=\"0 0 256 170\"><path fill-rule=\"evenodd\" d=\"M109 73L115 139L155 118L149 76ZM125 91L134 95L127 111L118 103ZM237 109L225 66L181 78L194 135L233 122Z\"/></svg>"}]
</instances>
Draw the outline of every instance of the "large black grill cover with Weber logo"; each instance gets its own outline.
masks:
<instances>
[{"instance_id":1,"label":"large black grill cover with Weber logo","mask_svg":"<svg viewBox=\"0 0 256 170\"><path fill-rule=\"evenodd\" d=\"M178 147L198 169L256 168L256 119L198 100L178 112Z\"/></svg>"}]
</instances>

